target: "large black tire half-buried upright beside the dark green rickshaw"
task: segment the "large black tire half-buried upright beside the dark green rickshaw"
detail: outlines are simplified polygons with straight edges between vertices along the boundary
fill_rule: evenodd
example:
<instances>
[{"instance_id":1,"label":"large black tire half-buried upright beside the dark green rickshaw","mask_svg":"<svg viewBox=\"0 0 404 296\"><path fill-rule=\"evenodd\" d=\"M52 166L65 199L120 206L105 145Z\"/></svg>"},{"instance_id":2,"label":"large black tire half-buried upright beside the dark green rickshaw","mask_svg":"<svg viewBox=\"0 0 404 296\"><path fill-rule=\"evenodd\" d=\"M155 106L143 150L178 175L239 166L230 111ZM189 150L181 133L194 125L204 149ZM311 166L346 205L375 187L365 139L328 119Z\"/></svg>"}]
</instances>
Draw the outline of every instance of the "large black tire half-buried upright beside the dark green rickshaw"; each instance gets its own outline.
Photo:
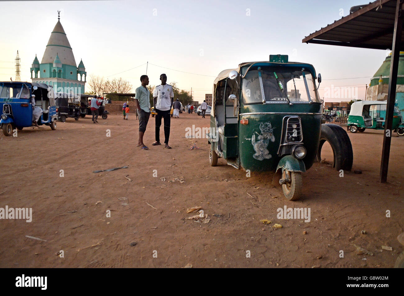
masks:
<instances>
[{"instance_id":1,"label":"large black tire half-buried upright beside the dark green rickshaw","mask_svg":"<svg viewBox=\"0 0 404 296\"><path fill-rule=\"evenodd\" d=\"M318 145L317 161L321 160L321 148L325 142L330 143L334 161L332 167L337 171L352 169L353 151L351 140L347 132L337 124L325 123L321 125L320 144Z\"/></svg>"}]
</instances>

